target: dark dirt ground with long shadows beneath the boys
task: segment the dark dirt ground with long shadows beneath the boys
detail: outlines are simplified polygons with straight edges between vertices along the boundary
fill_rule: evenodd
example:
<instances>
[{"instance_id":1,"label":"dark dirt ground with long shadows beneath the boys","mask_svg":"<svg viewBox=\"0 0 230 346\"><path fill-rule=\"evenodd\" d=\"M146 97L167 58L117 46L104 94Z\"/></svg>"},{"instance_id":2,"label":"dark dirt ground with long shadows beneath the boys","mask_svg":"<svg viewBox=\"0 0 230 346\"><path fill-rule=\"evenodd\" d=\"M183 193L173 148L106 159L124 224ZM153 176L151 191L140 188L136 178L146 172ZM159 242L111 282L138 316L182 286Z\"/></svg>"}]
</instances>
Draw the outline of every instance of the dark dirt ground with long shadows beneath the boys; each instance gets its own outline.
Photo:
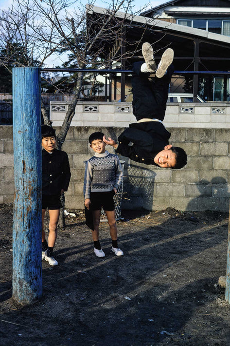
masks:
<instances>
[{"instance_id":1,"label":"dark dirt ground with long shadows beneath the boys","mask_svg":"<svg viewBox=\"0 0 230 346\"><path fill-rule=\"evenodd\" d=\"M1 346L230 345L230 306L216 285L226 273L227 213L124 211L124 256L111 252L101 223L98 258L84 214L73 212L58 233L59 266L42 263L42 299L22 308L11 299L12 206L1 206Z\"/></svg>"}]
</instances>

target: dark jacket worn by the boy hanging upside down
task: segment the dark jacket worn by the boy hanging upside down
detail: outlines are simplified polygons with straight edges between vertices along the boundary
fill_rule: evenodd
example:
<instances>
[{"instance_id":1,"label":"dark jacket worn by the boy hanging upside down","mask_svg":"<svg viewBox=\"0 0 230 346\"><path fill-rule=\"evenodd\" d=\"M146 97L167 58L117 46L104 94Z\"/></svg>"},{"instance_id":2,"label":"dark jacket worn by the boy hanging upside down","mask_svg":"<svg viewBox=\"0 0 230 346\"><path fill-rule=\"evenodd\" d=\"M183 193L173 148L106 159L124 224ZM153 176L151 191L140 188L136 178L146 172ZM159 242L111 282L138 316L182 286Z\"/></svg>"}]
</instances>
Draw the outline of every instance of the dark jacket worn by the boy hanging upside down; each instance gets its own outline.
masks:
<instances>
[{"instance_id":1,"label":"dark jacket worn by the boy hanging upside down","mask_svg":"<svg viewBox=\"0 0 230 346\"><path fill-rule=\"evenodd\" d=\"M158 166L154 157L169 144L170 136L170 132L159 121L132 123L118 137L116 153L136 162ZM133 145L129 146L129 142Z\"/></svg>"}]
</instances>

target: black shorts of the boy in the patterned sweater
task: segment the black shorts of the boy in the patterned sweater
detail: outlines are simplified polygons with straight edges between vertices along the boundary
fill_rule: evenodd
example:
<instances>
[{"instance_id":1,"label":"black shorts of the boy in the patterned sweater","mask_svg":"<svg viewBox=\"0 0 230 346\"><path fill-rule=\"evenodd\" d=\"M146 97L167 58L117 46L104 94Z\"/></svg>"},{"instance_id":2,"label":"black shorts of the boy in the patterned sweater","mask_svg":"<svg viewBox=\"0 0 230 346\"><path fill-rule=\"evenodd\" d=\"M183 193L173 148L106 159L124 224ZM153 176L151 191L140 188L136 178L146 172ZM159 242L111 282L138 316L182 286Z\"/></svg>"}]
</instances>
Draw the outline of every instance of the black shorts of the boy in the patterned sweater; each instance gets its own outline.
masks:
<instances>
[{"instance_id":1,"label":"black shorts of the boy in the patterned sweater","mask_svg":"<svg viewBox=\"0 0 230 346\"><path fill-rule=\"evenodd\" d=\"M101 210L101 208L103 208L105 211L113 211L115 209L115 204L113 200L114 194L114 190L108 192L91 192L91 210Z\"/></svg>"}]
</instances>

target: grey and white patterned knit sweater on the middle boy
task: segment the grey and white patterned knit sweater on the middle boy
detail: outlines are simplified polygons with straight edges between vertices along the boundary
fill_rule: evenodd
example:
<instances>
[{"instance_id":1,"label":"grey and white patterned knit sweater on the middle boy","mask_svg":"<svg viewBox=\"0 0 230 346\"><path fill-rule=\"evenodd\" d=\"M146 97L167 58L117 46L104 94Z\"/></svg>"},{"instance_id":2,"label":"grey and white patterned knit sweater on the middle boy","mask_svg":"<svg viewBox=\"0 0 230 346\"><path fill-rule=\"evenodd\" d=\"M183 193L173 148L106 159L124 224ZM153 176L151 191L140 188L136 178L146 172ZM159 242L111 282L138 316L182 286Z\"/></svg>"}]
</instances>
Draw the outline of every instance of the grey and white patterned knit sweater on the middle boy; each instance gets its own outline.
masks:
<instances>
[{"instance_id":1,"label":"grey and white patterned knit sweater on the middle boy","mask_svg":"<svg viewBox=\"0 0 230 346\"><path fill-rule=\"evenodd\" d=\"M95 153L86 162L84 179L84 197L90 198L90 192L106 192L118 188L122 182L122 166L117 155L107 152Z\"/></svg>"}]
</instances>

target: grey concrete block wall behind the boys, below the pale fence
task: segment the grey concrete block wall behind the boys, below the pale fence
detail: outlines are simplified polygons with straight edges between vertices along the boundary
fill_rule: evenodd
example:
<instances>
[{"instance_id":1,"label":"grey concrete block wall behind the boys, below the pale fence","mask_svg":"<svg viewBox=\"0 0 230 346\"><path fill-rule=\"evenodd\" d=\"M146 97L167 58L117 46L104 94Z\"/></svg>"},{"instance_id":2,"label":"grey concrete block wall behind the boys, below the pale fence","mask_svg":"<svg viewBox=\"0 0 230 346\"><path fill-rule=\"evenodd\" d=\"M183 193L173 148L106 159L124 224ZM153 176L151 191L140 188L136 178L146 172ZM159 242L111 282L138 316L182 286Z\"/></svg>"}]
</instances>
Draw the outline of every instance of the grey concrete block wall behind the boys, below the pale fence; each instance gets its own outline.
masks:
<instances>
[{"instance_id":1,"label":"grey concrete block wall behind the boys, below the pale fence","mask_svg":"<svg viewBox=\"0 0 230 346\"><path fill-rule=\"evenodd\" d=\"M58 133L58 127L56 128ZM66 207L83 209L84 161L92 156L88 136L102 131L117 138L118 127L74 127L69 129L63 150L69 155L71 182ZM120 156L124 164L123 209L182 211L229 211L230 129L169 128L170 143L184 148L188 164L169 170L138 164ZM110 152L113 148L107 146ZM12 126L0 126L0 203L14 198L14 160Z\"/></svg>"}]
</instances>

